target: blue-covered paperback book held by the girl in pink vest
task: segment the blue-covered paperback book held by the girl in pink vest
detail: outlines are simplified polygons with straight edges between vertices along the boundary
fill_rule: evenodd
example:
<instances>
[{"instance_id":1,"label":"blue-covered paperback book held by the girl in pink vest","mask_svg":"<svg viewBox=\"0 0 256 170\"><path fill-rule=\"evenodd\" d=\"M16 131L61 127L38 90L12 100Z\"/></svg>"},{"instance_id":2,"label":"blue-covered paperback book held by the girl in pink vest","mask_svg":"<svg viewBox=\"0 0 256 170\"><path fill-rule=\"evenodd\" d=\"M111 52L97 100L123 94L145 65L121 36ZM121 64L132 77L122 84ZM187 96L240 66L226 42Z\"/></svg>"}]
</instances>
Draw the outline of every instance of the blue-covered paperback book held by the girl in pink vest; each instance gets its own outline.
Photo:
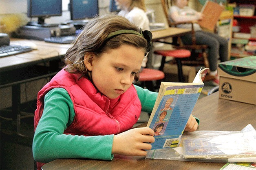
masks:
<instances>
[{"instance_id":1,"label":"blue-covered paperback book held by the girl in pink vest","mask_svg":"<svg viewBox=\"0 0 256 170\"><path fill-rule=\"evenodd\" d=\"M207 70L208 68L199 70L195 78L198 83L196 81L196 83L161 82L147 125L155 131L152 149L176 147L179 144L185 125L203 88L202 77Z\"/></svg>"}]
</instances>

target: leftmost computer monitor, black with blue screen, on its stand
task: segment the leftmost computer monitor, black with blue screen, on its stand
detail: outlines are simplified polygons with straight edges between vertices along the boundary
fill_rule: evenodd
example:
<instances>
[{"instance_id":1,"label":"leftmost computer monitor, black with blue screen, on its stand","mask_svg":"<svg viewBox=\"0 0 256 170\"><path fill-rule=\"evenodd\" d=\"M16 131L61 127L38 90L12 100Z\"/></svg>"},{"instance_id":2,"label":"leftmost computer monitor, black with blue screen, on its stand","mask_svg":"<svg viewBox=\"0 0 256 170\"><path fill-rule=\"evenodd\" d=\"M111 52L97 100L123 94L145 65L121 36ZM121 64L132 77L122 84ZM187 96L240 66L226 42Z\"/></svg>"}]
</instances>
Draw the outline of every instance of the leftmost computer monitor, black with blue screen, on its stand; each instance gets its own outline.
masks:
<instances>
[{"instance_id":1,"label":"leftmost computer monitor, black with blue screen, on its stand","mask_svg":"<svg viewBox=\"0 0 256 170\"><path fill-rule=\"evenodd\" d=\"M62 0L27 0L27 16L38 17L37 22L29 22L32 26L57 26L58 24L46 24L45 18L62 15Z\"/></svg>"}]
</instances>

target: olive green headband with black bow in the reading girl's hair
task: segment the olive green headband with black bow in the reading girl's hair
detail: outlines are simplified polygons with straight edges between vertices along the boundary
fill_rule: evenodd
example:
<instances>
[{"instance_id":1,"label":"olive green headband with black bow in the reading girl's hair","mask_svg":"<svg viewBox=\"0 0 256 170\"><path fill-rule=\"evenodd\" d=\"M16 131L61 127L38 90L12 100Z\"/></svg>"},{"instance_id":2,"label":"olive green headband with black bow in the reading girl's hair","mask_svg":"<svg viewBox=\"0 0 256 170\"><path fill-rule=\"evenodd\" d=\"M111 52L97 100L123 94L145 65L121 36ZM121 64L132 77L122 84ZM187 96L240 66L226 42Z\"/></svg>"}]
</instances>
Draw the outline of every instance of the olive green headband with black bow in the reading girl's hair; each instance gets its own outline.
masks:
<instances>
[{"instance_id":1,"label":"olive green headband with black bow in the reading girl's hair","mask_svg":"<svg viewBox=\"0 0 256 170\"><path fill-rule=\"evenodd\" d=\"M120 35L120 34L136 34L136 35L143 37L148 42L146 52L150 51L151 45L152 45L152 42L151 42L152 33L150 31L148 31L148 30L142 31L141 29L139 32L137 32L135 30L118 30L118 31L111 32L110 34L108 34L107 38L105 39L105 42L117 35Z\"/></svg>"}]
</instances>

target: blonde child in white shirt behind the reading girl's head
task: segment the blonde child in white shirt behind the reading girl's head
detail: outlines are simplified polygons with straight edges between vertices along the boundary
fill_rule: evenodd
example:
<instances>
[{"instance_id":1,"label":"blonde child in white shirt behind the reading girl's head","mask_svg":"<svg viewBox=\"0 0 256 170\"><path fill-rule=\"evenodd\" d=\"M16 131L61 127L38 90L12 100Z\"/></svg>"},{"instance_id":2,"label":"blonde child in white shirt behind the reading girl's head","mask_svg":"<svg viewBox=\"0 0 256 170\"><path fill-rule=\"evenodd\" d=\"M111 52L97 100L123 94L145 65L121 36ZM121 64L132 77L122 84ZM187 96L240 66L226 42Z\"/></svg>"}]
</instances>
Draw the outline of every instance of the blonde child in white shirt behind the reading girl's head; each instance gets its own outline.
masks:
<instances>
[{"instance_id":1,"label":"blonde child in white shirt behind the reading girl's head","mask_svg":"<svg viewBox=\"0 0 256 170\"><path fill-rule=\"evenodd\" d=\"M121 9L118 15L127 18L143 31L150 30L144 0L115 0L115 2ZM148 57L145 56L141 66L146 67L147 61Z\"/></svg>"}]
</instances>

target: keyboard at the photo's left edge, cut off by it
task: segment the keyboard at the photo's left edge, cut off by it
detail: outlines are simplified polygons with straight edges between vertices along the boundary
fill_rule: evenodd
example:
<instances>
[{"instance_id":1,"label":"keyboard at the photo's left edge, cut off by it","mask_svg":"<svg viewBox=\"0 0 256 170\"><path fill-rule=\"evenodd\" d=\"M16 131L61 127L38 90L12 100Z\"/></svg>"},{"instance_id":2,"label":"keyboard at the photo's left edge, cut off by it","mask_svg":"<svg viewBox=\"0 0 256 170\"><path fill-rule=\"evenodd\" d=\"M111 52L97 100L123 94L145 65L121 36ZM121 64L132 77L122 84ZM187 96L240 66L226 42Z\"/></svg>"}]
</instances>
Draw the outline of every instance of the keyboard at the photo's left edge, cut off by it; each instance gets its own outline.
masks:
<instances>
[{"instance_id":1,"label":"keyboard at the photo's left edge, cut off by it","mask_svg":"<svg viewBox=\"0 0 256 170\"><path fill-rule=\"evenodd\" d=\"M0 46L0 57L30 52L32 50L33 49L31 47L24 46L24 45L1 45Z\"/></svg>"}]
</instances>

